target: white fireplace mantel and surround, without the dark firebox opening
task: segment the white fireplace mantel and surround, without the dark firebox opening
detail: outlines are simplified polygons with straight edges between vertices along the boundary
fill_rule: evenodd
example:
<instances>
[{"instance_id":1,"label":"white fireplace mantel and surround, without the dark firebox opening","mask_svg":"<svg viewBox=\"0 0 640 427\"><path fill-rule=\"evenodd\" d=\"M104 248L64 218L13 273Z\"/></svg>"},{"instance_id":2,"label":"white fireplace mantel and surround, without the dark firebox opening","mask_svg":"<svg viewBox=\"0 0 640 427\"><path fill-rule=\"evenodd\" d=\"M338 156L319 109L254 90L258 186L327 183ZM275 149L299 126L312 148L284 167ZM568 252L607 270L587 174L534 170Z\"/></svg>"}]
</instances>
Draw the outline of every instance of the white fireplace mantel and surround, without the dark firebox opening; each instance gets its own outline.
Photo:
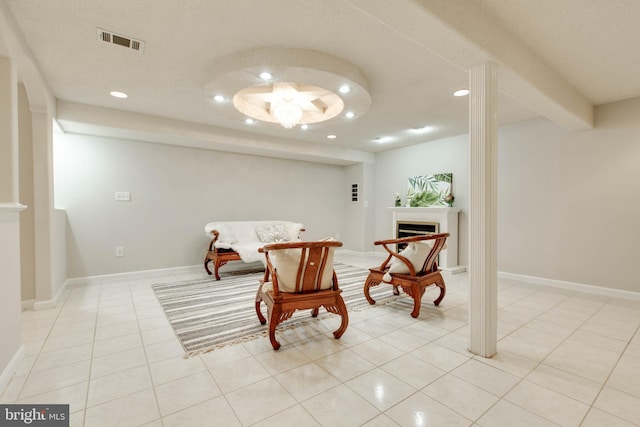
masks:
<instances>
[{"instance_id":1,"label":"white fireplace mantel and surround, without the dark firebox opening","mask_svg":"<svg viewBox=\"0 0 640 427\"><path fill-rule=\"evenodd\" d=\"M440 252L440 268L453 274L466 270L466 267L458 265L458 213L460 208L391 207L388 209L391 210L391 235L393 236L395 236L398 221L437 222L440 233L449 233L447 247Z\"/></svg>"}]
</instances>

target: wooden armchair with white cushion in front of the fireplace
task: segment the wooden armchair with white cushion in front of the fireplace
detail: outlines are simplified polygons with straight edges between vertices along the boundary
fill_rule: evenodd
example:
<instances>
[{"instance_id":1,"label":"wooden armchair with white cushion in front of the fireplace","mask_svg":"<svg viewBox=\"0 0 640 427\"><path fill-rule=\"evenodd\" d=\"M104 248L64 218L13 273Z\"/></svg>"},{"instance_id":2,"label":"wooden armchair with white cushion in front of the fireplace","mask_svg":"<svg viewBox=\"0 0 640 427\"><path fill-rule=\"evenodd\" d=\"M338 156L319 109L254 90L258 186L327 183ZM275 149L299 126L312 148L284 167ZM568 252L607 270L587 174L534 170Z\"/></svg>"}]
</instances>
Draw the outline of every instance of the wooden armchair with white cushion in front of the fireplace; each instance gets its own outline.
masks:
<instances>
[{"instance_id":1,"label":"wooden armchair with white cushion in front of the fireplace","mask_svg":"<svg viewBox=\"0 0 640 427\"><path fill-rule=\"evenodd\" d=\"M444 298L446 287L438 270L438 254L445 246L449 233L429 234L423 236L403 237L399 239L380 240L374 242L389 253L380 267L369 269L364 284L364 296L369 304L375 304L369 294L369 288L386 283L393 286L393 293L398 295L398 288L413 298L411 316L418 317L420 304L426 288L435 285L440 288L440 296L433 302L436 306ZM407 244L402 252L395 252L390 245Z\"/></svg>"}]
</instances>

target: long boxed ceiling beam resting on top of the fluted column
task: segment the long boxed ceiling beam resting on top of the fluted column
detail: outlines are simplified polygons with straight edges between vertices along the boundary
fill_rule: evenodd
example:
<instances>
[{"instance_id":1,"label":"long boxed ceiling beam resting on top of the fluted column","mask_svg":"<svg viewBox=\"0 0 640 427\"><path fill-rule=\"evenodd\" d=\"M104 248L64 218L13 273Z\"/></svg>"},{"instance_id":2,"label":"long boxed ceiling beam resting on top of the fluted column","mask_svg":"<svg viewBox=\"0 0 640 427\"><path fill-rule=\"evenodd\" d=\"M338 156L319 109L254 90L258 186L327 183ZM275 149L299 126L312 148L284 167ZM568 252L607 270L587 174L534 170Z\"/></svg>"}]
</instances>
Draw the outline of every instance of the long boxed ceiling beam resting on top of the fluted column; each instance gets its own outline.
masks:
<instances>
[{"instance_id":1,"label":"long boxed ceiling beam resting on top of the fluted column","mask_svg":"<svg viewBox=\"0 0 640 427\"><path fill-rule=\"evenodd\" d=\"M499 91L570 130L591 129L594 107L476 1L348 0L362 13L464 70L500 66Z\"/></svg>"}]
</instances>

